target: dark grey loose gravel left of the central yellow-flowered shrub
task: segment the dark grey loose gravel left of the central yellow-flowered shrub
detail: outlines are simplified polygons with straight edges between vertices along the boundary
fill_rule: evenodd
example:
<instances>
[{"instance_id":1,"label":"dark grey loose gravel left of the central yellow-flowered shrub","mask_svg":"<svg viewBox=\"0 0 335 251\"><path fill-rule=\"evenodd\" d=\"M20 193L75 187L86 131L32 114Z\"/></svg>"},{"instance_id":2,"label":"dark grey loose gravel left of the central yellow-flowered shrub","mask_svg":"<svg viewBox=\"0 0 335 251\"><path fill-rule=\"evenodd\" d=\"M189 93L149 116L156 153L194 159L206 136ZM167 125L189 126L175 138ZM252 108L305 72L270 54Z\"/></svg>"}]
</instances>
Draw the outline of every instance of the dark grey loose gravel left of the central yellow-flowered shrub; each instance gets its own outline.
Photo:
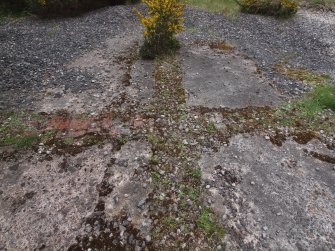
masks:
<instances>
[{"instance_id":1,"label":"dark grey loose gravel left of the central yellow-flowered shrub","mask_svg":"<svg viewBox=\"0 0 335 251\"><path fill-rule=\"evenodd\" d=\"M18 20L0 27L0 108L32 108L42 90L97 88L94 75L66 65L132 28L136 17L117 6L69 19ZM93 81L94 82L94 81Z\"/></svg>"}]
</instances>

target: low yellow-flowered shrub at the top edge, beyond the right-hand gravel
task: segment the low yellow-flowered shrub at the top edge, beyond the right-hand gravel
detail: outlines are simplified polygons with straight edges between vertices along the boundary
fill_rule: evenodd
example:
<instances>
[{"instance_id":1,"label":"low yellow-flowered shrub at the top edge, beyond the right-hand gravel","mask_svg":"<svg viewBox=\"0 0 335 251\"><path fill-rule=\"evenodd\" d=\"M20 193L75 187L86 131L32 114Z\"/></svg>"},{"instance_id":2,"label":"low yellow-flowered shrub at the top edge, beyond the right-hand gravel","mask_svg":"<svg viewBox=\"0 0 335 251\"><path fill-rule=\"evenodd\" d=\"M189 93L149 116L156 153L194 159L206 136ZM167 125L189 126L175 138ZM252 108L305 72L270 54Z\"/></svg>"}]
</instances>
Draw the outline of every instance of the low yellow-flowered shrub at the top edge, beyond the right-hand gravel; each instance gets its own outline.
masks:
<instances>
[{"instance_id":1,"label":"low yellow-flowered shrub at the top edge, beyond the right-hand gravel","mask_svg":"<svg viewBox=\"0 0 335 251\"><path fill-rule=\"evenodd\" d=\"M297 0L236 0L241 11L272 16L290 16L297 12Z\"/></svg>"}]
</instances>

